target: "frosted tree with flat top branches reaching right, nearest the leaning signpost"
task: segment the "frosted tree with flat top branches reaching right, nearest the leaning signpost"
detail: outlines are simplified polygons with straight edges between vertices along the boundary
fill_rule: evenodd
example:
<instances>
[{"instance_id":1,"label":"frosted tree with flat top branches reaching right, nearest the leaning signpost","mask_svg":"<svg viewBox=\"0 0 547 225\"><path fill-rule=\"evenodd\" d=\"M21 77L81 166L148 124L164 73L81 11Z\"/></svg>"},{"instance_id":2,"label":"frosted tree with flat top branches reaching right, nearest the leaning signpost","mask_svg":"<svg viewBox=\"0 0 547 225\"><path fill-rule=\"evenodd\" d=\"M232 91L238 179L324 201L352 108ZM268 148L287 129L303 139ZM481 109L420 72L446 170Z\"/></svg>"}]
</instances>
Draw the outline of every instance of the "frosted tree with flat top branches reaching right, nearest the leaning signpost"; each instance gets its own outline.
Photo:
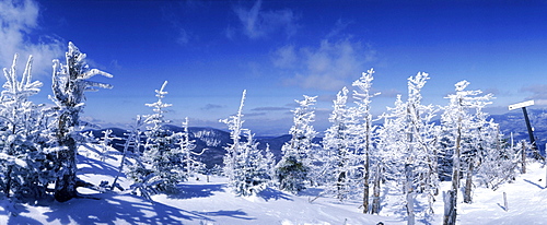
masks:
<instances>
[{"instance_id":1,"label":"frosted tree with flat top branches reaching right, nearest the leaning signpost","mask_svg":"<svg viewBox=\"0 0 547 225\"><path fill-rule=\"evenodd\" d=\"M476 130L481 127L477 126L475 116L470 109L481 108L490 104L491 94L480 95L481 91L467 91L469 85L467 81L461 81L455 84L455 94L450 94L446 98L450 99L449 105L444 108L441 116L443 129L442 140L445 143L445 151L453 153L452 155L452 186L444 197L444 218L443 224L455 224L456 222L456 202L457 190L459 189L459 178L463 168L466 168L467 179L473 176L473 169L477 163L477 151L475 146L477 141ZM470 182L466 185L464 200L470 202Z\"/></svg>"}]
</instances>

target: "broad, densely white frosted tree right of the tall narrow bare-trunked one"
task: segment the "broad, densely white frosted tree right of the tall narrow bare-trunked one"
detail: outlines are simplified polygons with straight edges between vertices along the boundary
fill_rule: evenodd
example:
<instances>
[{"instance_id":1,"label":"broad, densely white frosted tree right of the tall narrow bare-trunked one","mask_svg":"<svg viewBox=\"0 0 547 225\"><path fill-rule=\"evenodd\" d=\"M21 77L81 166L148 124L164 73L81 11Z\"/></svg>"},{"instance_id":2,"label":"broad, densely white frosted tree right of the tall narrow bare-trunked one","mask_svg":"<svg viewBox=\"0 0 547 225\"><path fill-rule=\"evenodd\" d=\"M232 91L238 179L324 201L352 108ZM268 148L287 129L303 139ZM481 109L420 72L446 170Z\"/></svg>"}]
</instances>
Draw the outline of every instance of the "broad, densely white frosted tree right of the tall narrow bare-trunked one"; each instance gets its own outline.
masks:
<instances>
[{"instance_id":1,"label":"broad, densely white frosted tree right of the tall narrow bare-trunked one","mask_svg":"<svg viewBox=\"0 0 547 225\"><path fill-rule=\"evenodd\" d=\"M408 224L415 223L415 197L428 197L429 208L426 215L432 214L434 196L438 193L437 175L437 127L431 121L437 109L421 104L421 88L429 74L418 73L408 79L408 99L400 95L395 107L384 114L384 126L379 130L381 162L391 179L398 180L405 192ZM376 203L377 204L377 203ZM374 204L373 204L374 206Z\"/></svg>"}]
</instances>

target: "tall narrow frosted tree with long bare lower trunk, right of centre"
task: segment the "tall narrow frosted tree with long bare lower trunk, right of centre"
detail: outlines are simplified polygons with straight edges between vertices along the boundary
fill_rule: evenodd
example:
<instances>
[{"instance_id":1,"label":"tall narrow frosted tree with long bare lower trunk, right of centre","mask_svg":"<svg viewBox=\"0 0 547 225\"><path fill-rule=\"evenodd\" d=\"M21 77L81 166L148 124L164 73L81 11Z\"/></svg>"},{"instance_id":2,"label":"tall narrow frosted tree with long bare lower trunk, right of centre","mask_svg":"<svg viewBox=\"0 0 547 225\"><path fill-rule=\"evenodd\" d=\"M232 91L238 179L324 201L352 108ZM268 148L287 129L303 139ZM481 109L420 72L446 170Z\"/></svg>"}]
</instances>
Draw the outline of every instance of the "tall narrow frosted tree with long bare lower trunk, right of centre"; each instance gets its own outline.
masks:
<instances>
[{"instance_id":1,"label":"tall narrow frosted tree with long bare lower trunk, right of centre","mask_svg":"<svg viewBox=\"0 0 547 225\"><path fill-rule=\"evenodd\" d=\"M356 147L358 154L362 155L362 182L363 182L363 213L369 213L369 192L370 192L370 155L374 149L372 143L373 138L373 126L372 126L372 112L371 112L371 102L372 97L379 95L380 93L372 93L372 81L374 70L370 69L363 72L361 78L352 83L353 86L358 87L359 91L353 91L353 98L356 98L357 107L357 118L361 122L354 126L354 131L358 137L356 142Z\"/></svg>"}]
</instances>

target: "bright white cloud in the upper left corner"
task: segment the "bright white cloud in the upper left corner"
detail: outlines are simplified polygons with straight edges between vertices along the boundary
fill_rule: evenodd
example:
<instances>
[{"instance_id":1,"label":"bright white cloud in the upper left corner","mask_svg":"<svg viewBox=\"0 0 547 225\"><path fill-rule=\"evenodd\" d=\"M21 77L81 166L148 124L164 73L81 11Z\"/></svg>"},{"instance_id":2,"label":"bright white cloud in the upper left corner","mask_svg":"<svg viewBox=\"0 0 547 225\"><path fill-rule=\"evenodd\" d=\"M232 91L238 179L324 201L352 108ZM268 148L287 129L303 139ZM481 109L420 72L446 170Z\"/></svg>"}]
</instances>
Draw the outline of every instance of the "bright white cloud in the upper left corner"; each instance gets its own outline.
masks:
<instances>
[{"instance_id":1,"label":"bright white cloud in the upper left corner","mask_svg":"<svg viewBox=\"0 0 547 225\"><path fill-rule=\"evenodd\" d=\"M20 55L18 68L28 55L34 56L34 74L50 74L51 60L63 52L63 45L51 37L40 36L32 43L31 34L38 27L39 9L36 2L0 1L0 68L11 67L13 55Z\"/></svg>"}]
</instances>

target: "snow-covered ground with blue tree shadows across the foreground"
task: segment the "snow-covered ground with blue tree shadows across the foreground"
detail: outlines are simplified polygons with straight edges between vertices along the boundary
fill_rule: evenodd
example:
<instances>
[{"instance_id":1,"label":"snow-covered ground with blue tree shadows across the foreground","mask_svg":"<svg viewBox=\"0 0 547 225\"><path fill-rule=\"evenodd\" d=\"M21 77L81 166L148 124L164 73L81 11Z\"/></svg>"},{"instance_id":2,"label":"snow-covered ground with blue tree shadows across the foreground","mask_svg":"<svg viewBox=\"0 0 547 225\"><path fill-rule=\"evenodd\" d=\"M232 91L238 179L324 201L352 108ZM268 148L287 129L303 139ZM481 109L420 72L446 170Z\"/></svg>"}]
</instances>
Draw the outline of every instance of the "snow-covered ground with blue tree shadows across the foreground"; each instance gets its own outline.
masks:
<instances>
[{"instance_id":1,"label":"snow-covered ground with blue tree shadows across the foreground","mask_svg":"<svg viewBox=\"0 0 547 225\"><path fill-rule=\"evenodd\" d=\"M118 158L106 162L96 158L92 153L80 156L80 178L93 183L112 182ZM540 164L531 163L527 174L520 175L513 183L505 183L497 191L475 189L473 204L458 201L457 223L547 224L545 171ZM207 182L201 176L200 180L179 185L179 194L154 196L154 202L128 192L98 193L83 188L79 191L89 198L65 203L43 201L31 205L2 200L0 224L406 224L405 209L395 190L384 192L388 196L384 196L380 215L364 215L358 201L340 202L322 197L311 202L321 192L318 189L309 189L299 196L267 189L257 197L242 198L230 193L225 181L222 177L211 177ZM121 179L123 187L129 185ZM443 190L449 186L449 182L442 183ZM417 210L423 210L426 202L418 199ZM441 196L437 199L435 215L424 220L418 214L417 224L442 224L443 202Z\"/></svg>"}]
</instances>

